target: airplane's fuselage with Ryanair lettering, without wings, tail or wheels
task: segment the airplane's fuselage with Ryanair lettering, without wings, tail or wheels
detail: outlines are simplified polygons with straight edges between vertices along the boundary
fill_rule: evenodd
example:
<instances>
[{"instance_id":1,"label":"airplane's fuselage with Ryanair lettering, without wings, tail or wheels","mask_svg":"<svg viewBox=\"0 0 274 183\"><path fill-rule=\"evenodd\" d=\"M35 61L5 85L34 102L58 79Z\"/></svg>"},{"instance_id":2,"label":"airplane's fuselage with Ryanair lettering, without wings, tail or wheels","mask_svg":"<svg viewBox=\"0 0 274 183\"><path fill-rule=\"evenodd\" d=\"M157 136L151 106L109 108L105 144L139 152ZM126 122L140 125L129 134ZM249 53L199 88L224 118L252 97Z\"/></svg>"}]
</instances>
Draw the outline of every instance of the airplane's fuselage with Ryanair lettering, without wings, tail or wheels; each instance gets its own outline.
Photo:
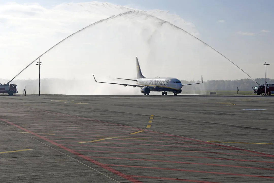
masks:
<instances>
[{"instance_id":1,"label":"airplane's fuselage with Ryanair lettering, without wings, tail or wheels","mask_svg":"<svg viewBox=\"0 0 274 183\"><path fill-rule=\"evenodd\" d=\"M169 90L180 90L182 88L181 81L176 78L139 78L137 85L156 86Z\"/></svg>"}]
</instances>

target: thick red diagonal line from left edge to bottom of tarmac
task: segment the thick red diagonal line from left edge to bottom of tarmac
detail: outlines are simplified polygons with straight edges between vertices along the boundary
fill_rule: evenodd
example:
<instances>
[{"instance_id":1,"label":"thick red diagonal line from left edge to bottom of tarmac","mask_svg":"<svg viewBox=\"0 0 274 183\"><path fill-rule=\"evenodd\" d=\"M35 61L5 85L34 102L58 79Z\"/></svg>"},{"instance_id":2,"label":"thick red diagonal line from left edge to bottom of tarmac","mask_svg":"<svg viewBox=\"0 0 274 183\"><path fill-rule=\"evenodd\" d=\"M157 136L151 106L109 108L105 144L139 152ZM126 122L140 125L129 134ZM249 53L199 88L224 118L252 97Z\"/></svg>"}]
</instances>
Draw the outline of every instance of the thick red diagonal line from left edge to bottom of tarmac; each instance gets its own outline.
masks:
<instances>
[{"instance_id":1,"label":"thick red diagonal line from left edge to bottom of tarmac","mask_svg":"<svg viewBox=\"0 0 274 183\"><path fill-rule=\"evenodd\" d=\"M39 137L39 138L41 138L41 139L43 139L43 140L46 140L47 142L50 142L50 143L52 143L53 145L56 145L56 146L58 146L58 147L60 147L60 148L62 148L62 149L64 149L64 150L66 150L66 151L68 151L68 152L70 152L70 153L73 153L73 154L75 154L75 155L77 155L77 156L79 156L79 157L81 157L81 158L83 158L83 159L86 159L87 161L92 162L93 164L98 165L98 166L100 166L100 167L102 167L102 168L104 168L104 169L106 169L106 170L108 170L108 171L110 171L110 172L112 172L112 173L118 175L118 176L121 176L122 178L127 179L128 181L131 181L131 182L140 182L140 183L142 183L141 181L138 181L138 180L136 180L136 179L134 179L134 178L132 178L132 177L130 177L130 176L128 176L128 175L125 175L125 174L123 174L123 173L121 173L121 172L119 172L119 171L117 171L117 170L115 170L115 169L113 169L113 168L111 168L111 167L105 165L105 164L102 164L102 163L100 163L100 162L98 162L98 161L95 161L94 159L91 159L91 158L89 158L89 157L87 157L87 156L85 156L85 155L83 155L83 154L80 154L80 153L78 153L78 152L76 152L76 151L73 151L73 150L71 150L71 149L69 149L69 148L67 148L67 147L64 147L64 146L62 146L62 145L60 145L60 144L58 144L58 143L56 143L56 142L54 142L54 141L52 141L52 140L49 140L49 139L47 139L47 138L45 138L45 137L42 137L42 136L40 136L40 135L38 135L38 134L36 134L36 133L33 133L33 132L30 131L30 130L27 130L27 129L25 129L25 128L21 127L21 126L18 126L18 125L16 125L16 124L12 123L12 122L9 122L8 120L2 119L2 118L0 118L0 120L4 121L4 122L6 122L6 123L9 123L10 125L16 126L17 128L20 128L20 129L22 129L22 130L24 130L24 131L26 131L26 132L28 132L28 133L30 133L30 134L33 134L33 135L35 135L35 136L37 136L37 137Z\"/></svg>"}]
</instances>

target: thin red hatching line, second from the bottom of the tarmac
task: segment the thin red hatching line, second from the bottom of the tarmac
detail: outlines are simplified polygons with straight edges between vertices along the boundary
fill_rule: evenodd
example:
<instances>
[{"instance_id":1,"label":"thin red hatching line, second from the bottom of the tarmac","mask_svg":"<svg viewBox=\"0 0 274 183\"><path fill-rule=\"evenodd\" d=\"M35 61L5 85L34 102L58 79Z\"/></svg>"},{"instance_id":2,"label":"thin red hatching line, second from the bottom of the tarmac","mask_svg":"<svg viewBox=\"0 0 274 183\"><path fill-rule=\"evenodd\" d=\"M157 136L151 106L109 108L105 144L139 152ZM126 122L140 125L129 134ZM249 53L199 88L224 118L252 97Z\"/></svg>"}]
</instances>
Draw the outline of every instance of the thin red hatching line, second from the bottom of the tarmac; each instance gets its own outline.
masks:
<instances>
[{"instance_id":1,"label":"thin red hatching line, second from the bottom of the tarmac","mask_svg":"<svg viewBox=\"0 0 274 183\"><path fill-rule=\"evenodd\" d=\"M199 171L199 170L185 170L185 169L175 169L175 168L159 168L159 167L143 167L143 166L127 166L127 165L113 165L113 164L106 164L106 165L113 166L113 167L148 168L148 169L157 169L157 170L187 171L187 172L195 172L195 173L212 173L212 174L237 175L237 176L244 176L244 177L258 177L258 178L274 179L274 177L267 177L267 176L260 176L260 175L246 175L246 174L223 173L223 172L213 172L213 171Z\"/></svg>"}]
</instances>

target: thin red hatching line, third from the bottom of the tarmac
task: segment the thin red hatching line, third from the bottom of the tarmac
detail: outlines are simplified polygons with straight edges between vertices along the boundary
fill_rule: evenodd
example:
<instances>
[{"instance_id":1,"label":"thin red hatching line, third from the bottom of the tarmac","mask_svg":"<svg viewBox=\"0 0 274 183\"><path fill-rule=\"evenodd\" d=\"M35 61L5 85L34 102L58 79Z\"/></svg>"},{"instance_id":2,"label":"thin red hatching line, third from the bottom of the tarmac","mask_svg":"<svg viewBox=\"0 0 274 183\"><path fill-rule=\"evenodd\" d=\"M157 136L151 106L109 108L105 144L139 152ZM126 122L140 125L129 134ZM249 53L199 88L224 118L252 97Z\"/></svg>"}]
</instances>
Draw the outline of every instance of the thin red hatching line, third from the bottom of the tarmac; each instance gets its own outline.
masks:
<instances>
[{"instance_id":1,"label":"thin red hatching line, third from the bottom of the tarmac","mask_svg":"<svg viewBox=\"0 0 274 183\"><path fill-rule=\"evenodd\" d=\"M251 168L258 170L274 170L274 168L259 168L259 167L243 167L235 165L221 165L221 164L210 164L210 163L191 163L183 161L165 161L165 160L151 160L151 159L134 159L134 158L123 158L123 157L105 157L105 156L88 156L92 158L104 158L104 159L126 159L135 161L153 161L153 162L166 162L166 163L181 163L181 164L192 164L192 165L208 165L208 166L220 166L220 167L234 167L234 168Z\"/></svg>"}]
</instances>

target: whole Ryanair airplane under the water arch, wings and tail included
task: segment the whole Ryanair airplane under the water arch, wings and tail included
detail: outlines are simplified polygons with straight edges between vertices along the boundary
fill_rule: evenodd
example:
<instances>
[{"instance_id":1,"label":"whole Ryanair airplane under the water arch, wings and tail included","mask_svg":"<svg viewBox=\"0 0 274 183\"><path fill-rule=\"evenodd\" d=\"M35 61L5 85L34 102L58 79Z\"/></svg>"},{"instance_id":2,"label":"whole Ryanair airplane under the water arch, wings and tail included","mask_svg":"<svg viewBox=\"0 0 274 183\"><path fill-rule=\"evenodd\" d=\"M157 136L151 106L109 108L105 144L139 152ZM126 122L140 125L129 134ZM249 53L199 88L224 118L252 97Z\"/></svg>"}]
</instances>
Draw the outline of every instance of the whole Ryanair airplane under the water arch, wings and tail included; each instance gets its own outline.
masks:
<instances>
[{"instance_id":1,"label":"whole Ryanair airplane under the water arch, wings and tail included","mask_svg":"<svg viewBox=\"0 0 274 183\"><path fill-rule=\"evenodd\" d=\"M142 71L141 71L137 57L136 57L136 71L137 71L136 80L124 79L124 78L116 78L116 79L136 81L137 85L121 84L121 83L108 83L108 84L132 86L133 88L140 87L141 93L144 95L149 95L150 91L155 91L155 92L162 92L162 95L167 95L167 92L173 92L174 96L177 96L177 94L182 92L182 86L196 85L196 84L203 83L203 76L202 76L201 83L192 83L192 84L182 84L180 80L172 77L146 78L142 75ZM94 74L92 75L94 77ZM107 82L96 81L95 77L94 77L94 80L97 83L107 83Z\"/></svg>"}]
</instances>

